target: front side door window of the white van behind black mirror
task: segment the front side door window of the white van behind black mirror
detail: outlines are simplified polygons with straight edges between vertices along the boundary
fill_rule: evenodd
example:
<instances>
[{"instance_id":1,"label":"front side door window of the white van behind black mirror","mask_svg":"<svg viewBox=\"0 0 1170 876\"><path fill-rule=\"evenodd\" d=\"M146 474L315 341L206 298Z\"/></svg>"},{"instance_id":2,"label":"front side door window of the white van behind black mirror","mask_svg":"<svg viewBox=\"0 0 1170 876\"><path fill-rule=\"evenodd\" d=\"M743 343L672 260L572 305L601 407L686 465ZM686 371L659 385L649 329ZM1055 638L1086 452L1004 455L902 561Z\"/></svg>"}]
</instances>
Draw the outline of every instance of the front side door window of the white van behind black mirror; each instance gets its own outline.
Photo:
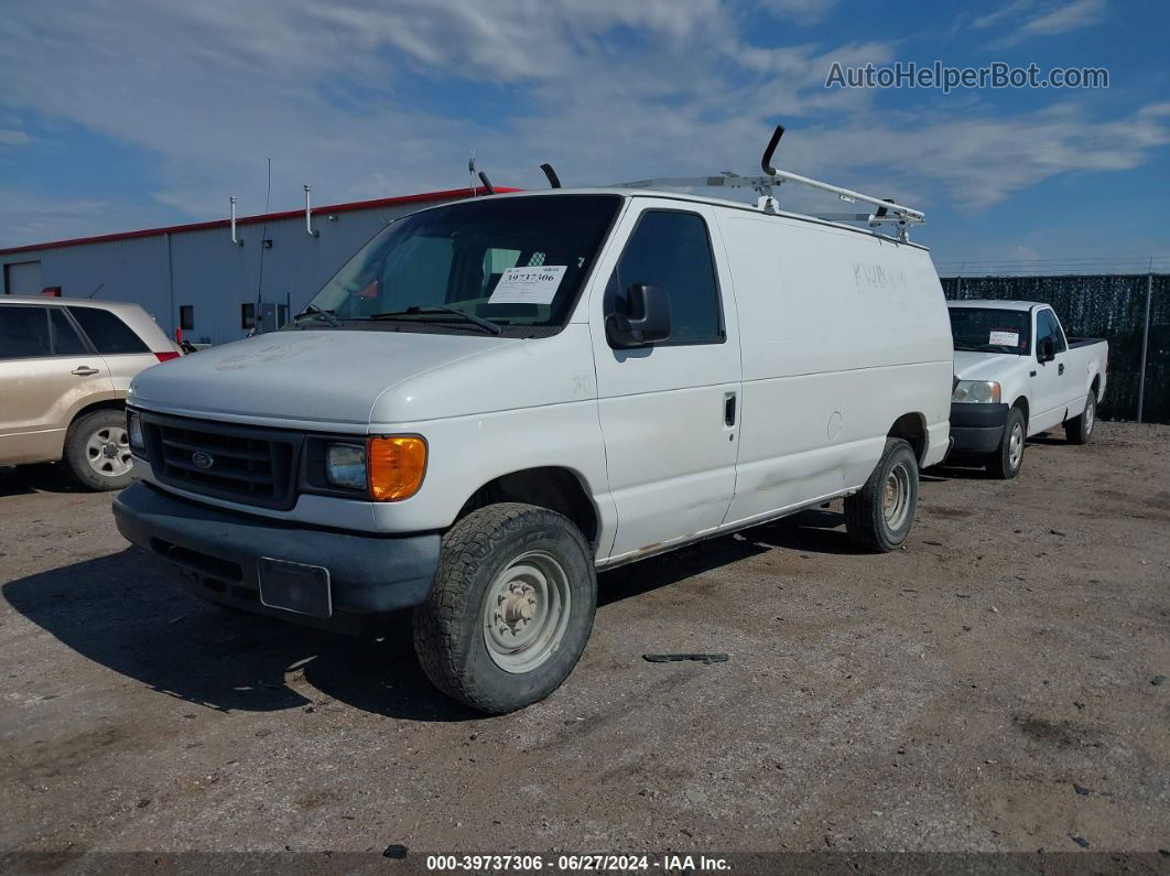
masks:
<instances>
[{"instance_id":1,"label":"front side door window of the white van behind black mirror","mask_svg":"<svg viewBox=\"0 0 1170 876\"><path fill-rule=\"evenodd\" d=\"M670 296L667 344L723 340L720 292L707 223L695 213L647 211L629 236L606 287L606 312L626 310L631 283L656 285Z\"/></svg>"}]
</instances>

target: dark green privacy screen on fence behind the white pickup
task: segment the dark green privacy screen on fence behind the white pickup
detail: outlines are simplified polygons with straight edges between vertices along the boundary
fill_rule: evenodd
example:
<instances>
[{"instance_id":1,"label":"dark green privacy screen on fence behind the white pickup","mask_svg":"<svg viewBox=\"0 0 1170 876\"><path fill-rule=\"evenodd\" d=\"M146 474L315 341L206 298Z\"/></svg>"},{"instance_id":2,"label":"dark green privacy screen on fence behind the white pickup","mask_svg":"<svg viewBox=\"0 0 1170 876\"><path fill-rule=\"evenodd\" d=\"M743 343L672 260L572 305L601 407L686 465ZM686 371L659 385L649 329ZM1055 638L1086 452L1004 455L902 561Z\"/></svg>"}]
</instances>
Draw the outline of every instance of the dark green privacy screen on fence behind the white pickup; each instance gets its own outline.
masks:
<instances>
[{"instance_id":1,"label":"dark green privacy screen on fence behind the white pickup","mask_svg":"<svg viewBox=\"0 0 1170 876\"><path fill-rule=\"evenodd\" d=\"M1109 342L1109 384L1101 416L1136 420L1142 329L1150 288L1142 419L1170 422L1170 275L943 277L948 298L1013 298L1051 304L1078 337Z\"/></svg>"}]
</instances>

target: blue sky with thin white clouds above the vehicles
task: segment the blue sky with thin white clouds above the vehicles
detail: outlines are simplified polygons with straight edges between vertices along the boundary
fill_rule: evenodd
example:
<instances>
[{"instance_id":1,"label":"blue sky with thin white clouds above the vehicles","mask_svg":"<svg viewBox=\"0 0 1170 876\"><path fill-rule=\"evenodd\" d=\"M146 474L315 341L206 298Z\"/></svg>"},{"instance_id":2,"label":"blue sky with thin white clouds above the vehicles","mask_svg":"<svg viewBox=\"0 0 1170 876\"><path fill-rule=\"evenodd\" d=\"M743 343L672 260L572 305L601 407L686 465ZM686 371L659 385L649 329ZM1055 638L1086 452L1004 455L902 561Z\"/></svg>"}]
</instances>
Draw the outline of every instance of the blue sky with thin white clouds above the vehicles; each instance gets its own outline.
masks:
<instances>
[{"instance_id":1,"label":"blue sky with thin white clouds above the vehicles","mask_svg":"<svg viewBox=\"0 0 1170 876\"><path fill-rule=\"evenodd\" d=\"M925 211L941 264L1166 258L1168 26L1159 0L5 0L0 247L459 187L473 150L519 187L751 174L784 124L778 167ZM1109 87L826 88L935 61Z\"/></svg>"}]
</instances>

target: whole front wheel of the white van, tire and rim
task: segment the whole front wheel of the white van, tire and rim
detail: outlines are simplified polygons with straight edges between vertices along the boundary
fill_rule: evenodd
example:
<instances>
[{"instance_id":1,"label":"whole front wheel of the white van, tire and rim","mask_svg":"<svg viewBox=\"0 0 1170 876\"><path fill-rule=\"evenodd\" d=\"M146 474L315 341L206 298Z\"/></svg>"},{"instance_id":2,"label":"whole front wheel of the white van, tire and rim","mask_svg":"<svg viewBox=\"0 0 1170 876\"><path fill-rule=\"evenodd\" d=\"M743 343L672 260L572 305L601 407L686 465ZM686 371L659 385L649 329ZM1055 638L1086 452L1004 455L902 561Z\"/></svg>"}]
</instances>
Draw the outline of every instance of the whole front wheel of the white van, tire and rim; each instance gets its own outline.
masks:
<instances>
[{"instance_id":1,"label":"whole front wheel of the white van, tire and rim","mask_svg":"<svg viewBox=\"0 0 1170 876\"><path fill-rule=\"evenodd\" d=\"M560 687L593 629L597 574L589 544L548 509L501 503L443 537L414 649L432 683L503 715Z\"/></svg>"}]
</instances>

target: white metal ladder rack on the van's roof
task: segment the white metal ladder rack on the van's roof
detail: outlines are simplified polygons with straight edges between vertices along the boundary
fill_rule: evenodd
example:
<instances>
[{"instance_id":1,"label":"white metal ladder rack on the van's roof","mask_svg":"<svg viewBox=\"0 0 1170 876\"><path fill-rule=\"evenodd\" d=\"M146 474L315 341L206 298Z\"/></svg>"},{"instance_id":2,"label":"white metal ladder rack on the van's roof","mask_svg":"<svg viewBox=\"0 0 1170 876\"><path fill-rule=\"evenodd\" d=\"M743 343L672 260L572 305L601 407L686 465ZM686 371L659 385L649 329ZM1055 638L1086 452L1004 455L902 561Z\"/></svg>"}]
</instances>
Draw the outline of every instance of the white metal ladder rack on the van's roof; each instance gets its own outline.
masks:
<instances>
[{"instance_id":1,"label":"white metal ladder rack on the van's roof","mask_svg":"<svg viewBox=\"0 0 1170 876\"><path fill-rule=\"evenodd\" d=\"M765 213L775 213L779 209L779 201L772 195L775 188L784 182L796 182L819 192L835 194L842 201L854 204L861 201L876 207L872 213L813 213L817 219L831 222L865 222L870 228L882 225L897 226L897 239L909 241L910 226L925 222L925 214L922 211L906 207L888 198L874 198L873 195L854 192L851 188L834 186L821 182L817 179L801 177L790 171L778 171L772 166L772 156L784 136L784 125L777 125L772 132L772 138L768 142L760 167L763 177L741 177L730 171L723 171L717 177L655 177L652 179L640 179L629 182L618 182L615 188L751 188L759 195L758 206Z\"/></svg>"}]
</instances>

